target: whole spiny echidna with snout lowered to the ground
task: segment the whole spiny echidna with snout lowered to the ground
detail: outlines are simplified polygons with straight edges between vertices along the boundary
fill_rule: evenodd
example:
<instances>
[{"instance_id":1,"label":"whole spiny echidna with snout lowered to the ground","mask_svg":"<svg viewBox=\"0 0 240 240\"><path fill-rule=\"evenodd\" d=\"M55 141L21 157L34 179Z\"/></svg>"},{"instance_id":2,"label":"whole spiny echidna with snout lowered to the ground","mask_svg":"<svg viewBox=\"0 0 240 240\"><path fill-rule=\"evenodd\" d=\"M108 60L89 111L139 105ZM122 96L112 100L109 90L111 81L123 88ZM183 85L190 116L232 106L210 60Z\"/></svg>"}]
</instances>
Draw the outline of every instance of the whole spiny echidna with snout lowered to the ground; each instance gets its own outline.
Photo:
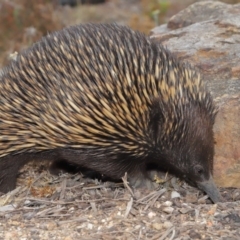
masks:
<instances>
[{"instance_id":1,"label":"whole spiny echidna with snout lowered to the ground","mask_svg":"<svg viewBox=\"0 0 240 240\"><path fill-rule=\"evenodd\" d=\"M148 166L190 180L213 202L216 114L200 75L162 45L116 24L68 27L1 75L0 191L29 160L65 160L132 185Z\"/></svg>"}]
</instances>

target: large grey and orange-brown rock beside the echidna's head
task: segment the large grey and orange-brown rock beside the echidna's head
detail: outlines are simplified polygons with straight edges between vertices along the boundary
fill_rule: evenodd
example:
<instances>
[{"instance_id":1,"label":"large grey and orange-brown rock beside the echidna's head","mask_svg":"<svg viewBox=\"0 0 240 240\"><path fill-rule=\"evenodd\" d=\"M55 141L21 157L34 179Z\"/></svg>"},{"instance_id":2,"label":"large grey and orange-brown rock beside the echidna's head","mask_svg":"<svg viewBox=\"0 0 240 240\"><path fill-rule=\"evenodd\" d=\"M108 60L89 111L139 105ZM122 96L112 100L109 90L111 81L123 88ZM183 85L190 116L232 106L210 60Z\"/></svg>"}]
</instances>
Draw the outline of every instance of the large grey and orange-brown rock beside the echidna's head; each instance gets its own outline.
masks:
<instances>
[{"instance_id":1,"label":"large grey and orange-brown rock beside the echidna's head","mask_svg":"<svg viewBox=\"0 0 240 240\"><path fill-rule=\"evenodd\" d=\"M240 188L240 4L197 2L153 29L151 38L201 72L219 108L216 184Z\"/></svg>"}]
</instances>

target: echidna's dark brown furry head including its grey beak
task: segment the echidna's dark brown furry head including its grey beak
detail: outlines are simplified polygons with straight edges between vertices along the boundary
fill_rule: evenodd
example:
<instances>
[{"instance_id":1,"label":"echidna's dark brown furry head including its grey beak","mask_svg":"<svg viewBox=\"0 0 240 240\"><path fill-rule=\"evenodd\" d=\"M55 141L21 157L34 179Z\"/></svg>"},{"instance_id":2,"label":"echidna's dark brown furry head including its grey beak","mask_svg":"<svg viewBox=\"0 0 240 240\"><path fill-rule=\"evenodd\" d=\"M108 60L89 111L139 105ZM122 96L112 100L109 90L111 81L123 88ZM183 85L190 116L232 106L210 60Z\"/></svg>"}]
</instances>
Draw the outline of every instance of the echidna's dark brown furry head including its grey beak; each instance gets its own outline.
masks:
<instances>
[{"instance_id":1,"label":"echidna's dark brown furry head including its grey beak","mask_svg":"<svg viewBox=\"0 0 240 240\"><path fill-rule=\"evenodd\" d=\"M201 104L153 104L151 132L160 167L204 190L213 202L221 197L212 179L215 113Z\"/></svg>"}]
</instances>

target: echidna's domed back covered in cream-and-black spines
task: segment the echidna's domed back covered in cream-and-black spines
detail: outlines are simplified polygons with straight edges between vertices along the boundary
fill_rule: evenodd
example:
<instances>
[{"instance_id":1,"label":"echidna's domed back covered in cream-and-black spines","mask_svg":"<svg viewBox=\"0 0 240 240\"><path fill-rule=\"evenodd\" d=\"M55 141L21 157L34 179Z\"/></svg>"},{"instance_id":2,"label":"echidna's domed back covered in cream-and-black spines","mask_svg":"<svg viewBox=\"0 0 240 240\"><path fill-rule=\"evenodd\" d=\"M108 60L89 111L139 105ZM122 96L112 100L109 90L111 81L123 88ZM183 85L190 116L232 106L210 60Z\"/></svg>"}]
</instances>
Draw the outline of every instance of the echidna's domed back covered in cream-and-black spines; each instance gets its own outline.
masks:
<instances>
[{"instance_id":1,"label":"echidna's domed back covered in cream-and-black spines","mask_svg":"<svg viewBox=\"0 0 240 240\"><path fill-rule=\"evenodd\" d=\"M190 99L206 104L202 89L195 71L141 33L114 24L70 27L5 69L0 156L58 147L144 155L153 144L152 101L160 96L174 109Z\"/></svg>"}]
</instances>

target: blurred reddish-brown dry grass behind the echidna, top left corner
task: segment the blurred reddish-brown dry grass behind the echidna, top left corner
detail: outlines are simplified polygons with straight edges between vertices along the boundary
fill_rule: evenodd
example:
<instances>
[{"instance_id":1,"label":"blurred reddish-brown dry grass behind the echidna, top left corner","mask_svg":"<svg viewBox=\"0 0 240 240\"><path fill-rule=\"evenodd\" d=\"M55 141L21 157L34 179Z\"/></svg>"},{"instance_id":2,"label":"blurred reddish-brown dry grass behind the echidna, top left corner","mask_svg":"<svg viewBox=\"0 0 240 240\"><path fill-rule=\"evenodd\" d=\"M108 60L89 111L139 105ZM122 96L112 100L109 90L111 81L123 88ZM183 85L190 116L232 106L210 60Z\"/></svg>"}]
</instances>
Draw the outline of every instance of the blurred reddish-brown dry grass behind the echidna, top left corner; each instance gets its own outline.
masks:
<instances>
[{"instance_id":1,"label":"blurred reddish-brown dry grass behind the echidna, top left corner","mask_svg":"<svg viewBox=\"0 0 240 240\"><path fill-rule=\"evenodd\" d=\"M10 53L29 47L41 36L63 25L50 0L0 0L0 67Z\"/></svg>"}]
</instances>

